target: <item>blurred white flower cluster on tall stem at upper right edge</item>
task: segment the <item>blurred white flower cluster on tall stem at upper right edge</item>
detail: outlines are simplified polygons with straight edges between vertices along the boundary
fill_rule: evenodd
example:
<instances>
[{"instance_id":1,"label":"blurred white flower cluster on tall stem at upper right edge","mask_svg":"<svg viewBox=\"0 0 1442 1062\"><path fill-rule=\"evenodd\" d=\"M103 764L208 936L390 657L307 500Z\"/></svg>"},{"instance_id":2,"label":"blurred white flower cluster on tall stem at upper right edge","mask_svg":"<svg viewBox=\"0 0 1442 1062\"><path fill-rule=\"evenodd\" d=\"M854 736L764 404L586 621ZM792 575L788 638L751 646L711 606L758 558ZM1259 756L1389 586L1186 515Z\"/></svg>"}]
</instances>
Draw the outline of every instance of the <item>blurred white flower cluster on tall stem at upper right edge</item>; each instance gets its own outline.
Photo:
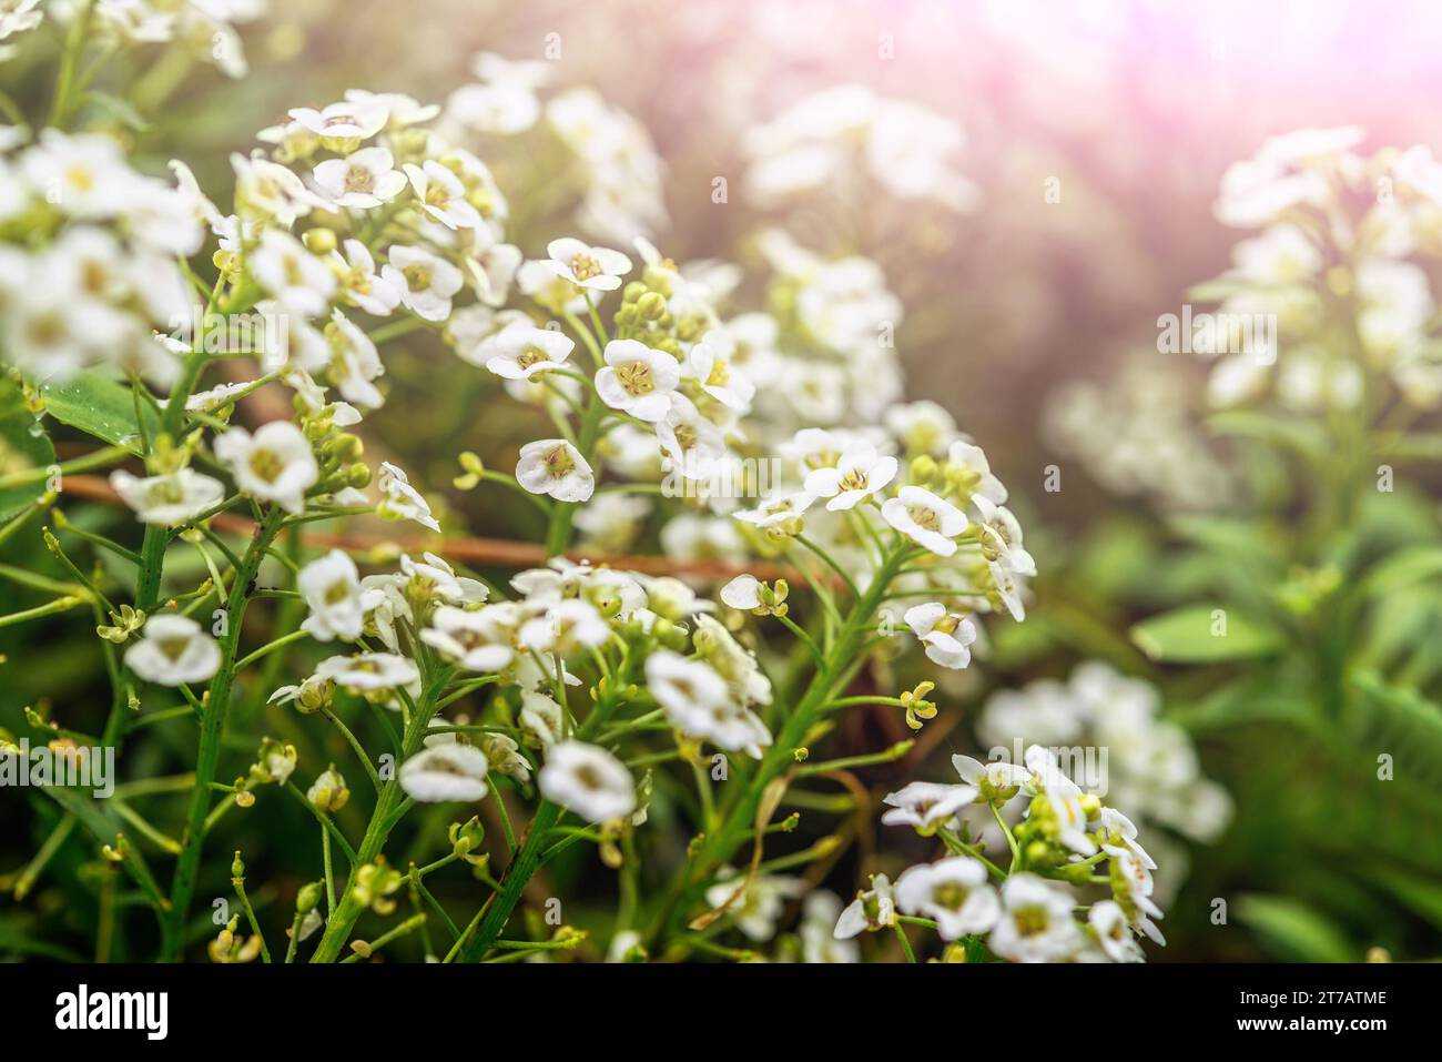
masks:
<instances>
[{"instance_id":1,"label":"blurred white flower cluster on tall stem at upper right edge","mask_svg":"<svg viewBox=\"0 0 1442 1062\"><path fill-rule=\"evenodd\" d=\"M1298 130L1223 175L1217 219L1262 231L1198 294L1221 300L1218 317L1273 316L1279 342L1229 351L1211 374L1216 405L1272 391L1293 411L1355 410L1368 374L1417 408L1442 403L1423 267L1442 238L1442 163L1426 147L1358 154L1364 139Z\"/></svg>"}]
</instances>

